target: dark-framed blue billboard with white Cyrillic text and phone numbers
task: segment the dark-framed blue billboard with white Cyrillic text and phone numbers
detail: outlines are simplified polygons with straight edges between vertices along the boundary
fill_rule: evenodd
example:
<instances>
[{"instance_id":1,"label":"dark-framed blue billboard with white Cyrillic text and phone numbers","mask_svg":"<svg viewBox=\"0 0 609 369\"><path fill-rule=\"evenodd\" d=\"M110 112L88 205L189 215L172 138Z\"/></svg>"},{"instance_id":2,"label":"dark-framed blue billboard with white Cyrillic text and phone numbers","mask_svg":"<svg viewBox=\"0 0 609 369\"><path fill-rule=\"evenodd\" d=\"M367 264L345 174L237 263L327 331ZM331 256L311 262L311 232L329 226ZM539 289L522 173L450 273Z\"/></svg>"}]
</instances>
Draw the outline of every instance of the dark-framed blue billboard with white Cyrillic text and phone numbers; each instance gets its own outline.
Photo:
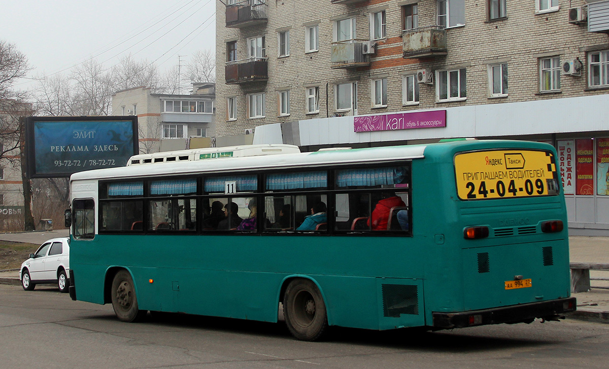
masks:
<instances>
[{"instance_id":1,"label":"dark-framed blue billboard with white Cyrillic text and phone numbers","mask_svg":"<svg viewBox=\"0 0 609 369\"><path fill-rule=\"evenodd\" d=\"M122 167L139 150L138 118L28 117L26 147L29 178Z\"/></svg>"}]
</instances>

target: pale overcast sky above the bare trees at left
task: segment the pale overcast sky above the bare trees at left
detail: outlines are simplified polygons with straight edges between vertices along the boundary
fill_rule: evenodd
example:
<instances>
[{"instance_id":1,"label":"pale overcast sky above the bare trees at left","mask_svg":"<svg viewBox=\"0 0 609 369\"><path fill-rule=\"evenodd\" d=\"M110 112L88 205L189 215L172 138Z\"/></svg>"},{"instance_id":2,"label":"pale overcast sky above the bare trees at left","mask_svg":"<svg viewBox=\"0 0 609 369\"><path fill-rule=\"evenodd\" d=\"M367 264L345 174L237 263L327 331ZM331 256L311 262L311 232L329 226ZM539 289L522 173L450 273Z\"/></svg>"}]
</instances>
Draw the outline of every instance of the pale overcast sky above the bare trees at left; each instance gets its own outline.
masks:
<instances>
[{"instance_id":1,"label":"pale overcast sky above the bare trees at left","mask_svg":"<svg viewBox=\"0 0 609 369\"><path fill-rule=\"evenodd\" d=\"M91 57L111 67L129 53L163 72L178 64L178 55L186 65L197 50L214 50L215 12L215 0L4 0L0 39L27 56L29 77Z\"/></svg>"}]
</instances>

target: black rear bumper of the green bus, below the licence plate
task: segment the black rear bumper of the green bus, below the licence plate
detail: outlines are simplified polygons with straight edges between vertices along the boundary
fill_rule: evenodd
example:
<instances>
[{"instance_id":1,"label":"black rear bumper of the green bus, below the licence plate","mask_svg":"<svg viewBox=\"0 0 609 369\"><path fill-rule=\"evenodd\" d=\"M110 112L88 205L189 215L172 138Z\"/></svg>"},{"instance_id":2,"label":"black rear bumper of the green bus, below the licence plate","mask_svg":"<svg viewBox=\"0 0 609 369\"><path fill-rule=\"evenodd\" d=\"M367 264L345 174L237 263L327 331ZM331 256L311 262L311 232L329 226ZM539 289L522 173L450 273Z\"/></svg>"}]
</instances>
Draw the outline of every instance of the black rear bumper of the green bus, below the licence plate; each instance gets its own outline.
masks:
<instances>
[{"instance_id":1,"label":"black rear bumper of the green bus, below the licence plate","mask_svg":"<svg viewBox=\"0 0 609 369\"><path fill-rule=\"evenodd\" d=\"M576 298L568 297L493 309L434 312L432 316L434 327L449 329L488 324L530 322L535 318L556 320L561 314L575 310Z\"/></svg>"}]
</instances>

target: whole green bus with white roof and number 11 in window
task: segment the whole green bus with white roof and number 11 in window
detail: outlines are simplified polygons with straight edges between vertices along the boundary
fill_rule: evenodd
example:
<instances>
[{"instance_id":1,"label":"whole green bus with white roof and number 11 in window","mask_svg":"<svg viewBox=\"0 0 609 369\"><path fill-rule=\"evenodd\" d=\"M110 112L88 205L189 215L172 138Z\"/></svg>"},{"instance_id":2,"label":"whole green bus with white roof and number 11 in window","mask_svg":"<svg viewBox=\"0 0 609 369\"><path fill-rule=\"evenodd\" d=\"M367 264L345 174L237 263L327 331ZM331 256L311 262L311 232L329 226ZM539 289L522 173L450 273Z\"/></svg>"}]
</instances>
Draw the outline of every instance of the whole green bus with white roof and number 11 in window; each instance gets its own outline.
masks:
<instances>
[{"instance_id":1,"label":"whole green bus with white roof and number 11 in window","mask_svg":"<svg viewBox=\"0 0 609 369\"><path fill-rule=\"evenodd\" d=\"M147 312L328 326L558 320L570 296L551 145L456 140L141 154L72 174L69 292Z\"/></svg>"}]
</instances>

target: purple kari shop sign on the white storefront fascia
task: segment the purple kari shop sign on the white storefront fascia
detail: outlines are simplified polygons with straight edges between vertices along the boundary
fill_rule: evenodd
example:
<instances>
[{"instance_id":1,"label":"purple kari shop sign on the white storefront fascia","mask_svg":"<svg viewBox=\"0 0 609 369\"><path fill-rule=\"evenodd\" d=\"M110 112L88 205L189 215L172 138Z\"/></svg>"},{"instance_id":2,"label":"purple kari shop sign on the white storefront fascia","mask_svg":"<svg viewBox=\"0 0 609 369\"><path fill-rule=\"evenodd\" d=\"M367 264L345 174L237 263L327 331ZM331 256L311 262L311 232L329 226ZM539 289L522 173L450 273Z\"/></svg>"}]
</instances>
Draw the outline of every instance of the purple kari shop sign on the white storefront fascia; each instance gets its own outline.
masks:
<instances>
[{"instance_id":1,"label":"purple kari shop sign on the white storefront fascia","mask_svg":"<svg viewBox=\"0 0 609 369\"><path fill-rule=\"evenodd\" d=\"M398 129L446 126L446 110L404 112L353 118L353 131L396 131Z\"/></svg>"}]
</instances>

